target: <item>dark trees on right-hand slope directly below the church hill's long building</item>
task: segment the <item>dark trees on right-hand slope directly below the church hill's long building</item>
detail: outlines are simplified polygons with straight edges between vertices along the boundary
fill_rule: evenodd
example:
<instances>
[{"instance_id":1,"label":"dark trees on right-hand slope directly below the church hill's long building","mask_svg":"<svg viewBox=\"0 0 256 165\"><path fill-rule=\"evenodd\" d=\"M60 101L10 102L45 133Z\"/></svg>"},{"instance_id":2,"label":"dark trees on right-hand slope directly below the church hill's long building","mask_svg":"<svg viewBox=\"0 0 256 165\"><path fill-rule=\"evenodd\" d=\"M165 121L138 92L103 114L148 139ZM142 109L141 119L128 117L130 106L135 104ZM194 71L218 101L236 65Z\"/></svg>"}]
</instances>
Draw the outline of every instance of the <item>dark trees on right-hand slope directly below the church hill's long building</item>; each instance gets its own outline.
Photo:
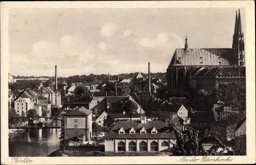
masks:
<instances>
[{"instance_id":1,"label":"dark trees on right-hand slope directly below the church hill's long building","mask_svg":"<svg viewBox=\"0 0 256 165\"><path fill-rule=\"evenodd\" d=\"M245 86L238 83L220 84L216 91L216 98L226 105L241 108L246 104Z\"/></svg>"}]
</instances>

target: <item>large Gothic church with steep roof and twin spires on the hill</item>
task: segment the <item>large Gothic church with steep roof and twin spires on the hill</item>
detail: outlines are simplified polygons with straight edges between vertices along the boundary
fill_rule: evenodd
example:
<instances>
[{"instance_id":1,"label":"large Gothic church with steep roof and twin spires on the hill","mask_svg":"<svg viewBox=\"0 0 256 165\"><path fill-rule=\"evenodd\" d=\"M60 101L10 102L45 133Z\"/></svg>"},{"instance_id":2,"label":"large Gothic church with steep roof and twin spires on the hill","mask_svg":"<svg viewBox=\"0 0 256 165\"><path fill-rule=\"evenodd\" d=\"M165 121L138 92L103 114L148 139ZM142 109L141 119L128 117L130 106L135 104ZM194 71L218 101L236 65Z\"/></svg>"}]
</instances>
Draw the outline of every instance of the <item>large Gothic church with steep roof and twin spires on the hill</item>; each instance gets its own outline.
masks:
<instances>
[{"instance_id":1,"label":"large Gothic church with steep roof and twin spires on the hill","mask_svg":"<svg viewBox=\"0 0 256 165\"><path fill-rule=\"evenodd\" d=\"M225 67L239 67L243 68L245 72L245 46L240 9L236 12L232 48L190 49L187 40L186 36L184 48L176 49L168 65L166 72L168 91L191 88L191 73L196 73L205 68L209 71L215 68L215 72L219 72ZM213 73L214 71L210 72Z\"/></svg>"}]
</instances>

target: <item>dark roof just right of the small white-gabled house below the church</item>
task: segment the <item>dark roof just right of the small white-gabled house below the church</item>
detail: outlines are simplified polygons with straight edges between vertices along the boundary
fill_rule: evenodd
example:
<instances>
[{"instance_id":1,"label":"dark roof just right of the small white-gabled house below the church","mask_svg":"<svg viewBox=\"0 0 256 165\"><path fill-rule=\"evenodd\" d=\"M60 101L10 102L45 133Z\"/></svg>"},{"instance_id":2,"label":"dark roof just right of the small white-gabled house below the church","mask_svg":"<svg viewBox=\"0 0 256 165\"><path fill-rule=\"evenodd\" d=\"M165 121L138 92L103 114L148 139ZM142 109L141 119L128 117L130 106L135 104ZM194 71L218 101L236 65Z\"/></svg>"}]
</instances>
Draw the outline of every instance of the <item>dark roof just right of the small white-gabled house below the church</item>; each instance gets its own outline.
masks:
<instances>
[{"instance_id":1,"label":"dark roof just right of the small white-gabled house below the church","mask_svg":"<svg viewBox=\"0 0 256 165\"><path fill-rule=\"evenodd\" d=\"M214 121L214 114L206 111L194 111L191 113L191 123L208 123Z\"/></svg>"}]
</instances>

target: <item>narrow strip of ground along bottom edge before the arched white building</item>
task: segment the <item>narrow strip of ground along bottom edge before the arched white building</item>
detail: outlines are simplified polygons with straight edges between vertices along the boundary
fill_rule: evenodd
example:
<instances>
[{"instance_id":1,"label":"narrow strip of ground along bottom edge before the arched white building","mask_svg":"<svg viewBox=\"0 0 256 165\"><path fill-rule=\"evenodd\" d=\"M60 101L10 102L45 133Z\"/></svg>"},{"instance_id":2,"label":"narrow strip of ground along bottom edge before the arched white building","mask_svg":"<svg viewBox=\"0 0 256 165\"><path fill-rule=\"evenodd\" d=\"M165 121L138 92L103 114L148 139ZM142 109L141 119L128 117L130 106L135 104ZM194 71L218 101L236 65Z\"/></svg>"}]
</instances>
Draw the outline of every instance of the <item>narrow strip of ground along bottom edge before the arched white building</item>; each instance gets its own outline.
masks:
<instances>
[{"instance_id":1,"label":"narrow strip of ground along bottom edge before the arched white building","mask_svg":"<svg viewBox=\"0 0 256 165\"><path fill-rule=\"evenodd\" d=\"M91 156L169 156L170 153L163 152L100 152L100 151L59 151L55 150L50 153L49 157L61 157L61 156L82 156L82 157L91 157Z\"/></svg>"}]
</instances>

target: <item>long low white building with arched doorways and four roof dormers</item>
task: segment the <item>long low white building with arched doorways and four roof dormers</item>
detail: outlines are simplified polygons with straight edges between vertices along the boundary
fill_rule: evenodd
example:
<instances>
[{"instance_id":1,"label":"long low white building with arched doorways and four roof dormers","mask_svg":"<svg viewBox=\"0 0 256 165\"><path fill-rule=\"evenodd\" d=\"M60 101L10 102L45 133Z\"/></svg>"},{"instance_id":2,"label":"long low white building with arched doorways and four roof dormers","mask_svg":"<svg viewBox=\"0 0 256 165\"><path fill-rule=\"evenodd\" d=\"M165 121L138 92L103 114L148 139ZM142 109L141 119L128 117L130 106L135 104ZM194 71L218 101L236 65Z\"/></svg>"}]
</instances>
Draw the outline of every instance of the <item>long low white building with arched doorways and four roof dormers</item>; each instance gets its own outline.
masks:
<instances>
[{"instance_id":1,"label":"long low white building with arched doorways and four roof dormers","mask_svg":"<svg viewBox=\"0 0 256 165\"><path fill-rule=\"evenodd\" d=\"M175 145L174 133L165 133L167 123L146 121L141 116L140 122L120 121L106 134L105 151L170 151Z\"/></svg>"}]
</instances>

